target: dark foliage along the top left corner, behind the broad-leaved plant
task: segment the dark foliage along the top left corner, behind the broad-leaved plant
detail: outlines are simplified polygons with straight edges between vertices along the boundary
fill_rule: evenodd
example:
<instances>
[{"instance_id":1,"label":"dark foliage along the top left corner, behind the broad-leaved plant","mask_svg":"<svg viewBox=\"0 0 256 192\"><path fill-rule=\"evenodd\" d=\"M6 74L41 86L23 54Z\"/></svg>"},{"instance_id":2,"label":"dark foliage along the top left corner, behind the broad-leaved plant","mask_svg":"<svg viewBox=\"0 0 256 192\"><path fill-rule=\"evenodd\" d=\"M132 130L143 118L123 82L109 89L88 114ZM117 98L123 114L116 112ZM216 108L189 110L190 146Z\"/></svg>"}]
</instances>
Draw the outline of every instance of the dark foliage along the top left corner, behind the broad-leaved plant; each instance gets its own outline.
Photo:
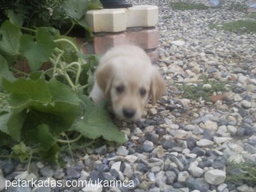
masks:
<instances>
[{"instance_id":1,"label":"dark foliage along the top left corner, behind the broad-leaved plant","mask_svg":"<svg viewBox=\"0 0 256 192\"><path fill-rule=\"evenodd\" d=\"M84 28L90 38L93 36L92 30L86 24L84 15L87 10L101 8L99 0L2 0L0 25L9 18L17 26L32 29L54 27L65 35L78 25Z\"/></svg>"}]
</instances>

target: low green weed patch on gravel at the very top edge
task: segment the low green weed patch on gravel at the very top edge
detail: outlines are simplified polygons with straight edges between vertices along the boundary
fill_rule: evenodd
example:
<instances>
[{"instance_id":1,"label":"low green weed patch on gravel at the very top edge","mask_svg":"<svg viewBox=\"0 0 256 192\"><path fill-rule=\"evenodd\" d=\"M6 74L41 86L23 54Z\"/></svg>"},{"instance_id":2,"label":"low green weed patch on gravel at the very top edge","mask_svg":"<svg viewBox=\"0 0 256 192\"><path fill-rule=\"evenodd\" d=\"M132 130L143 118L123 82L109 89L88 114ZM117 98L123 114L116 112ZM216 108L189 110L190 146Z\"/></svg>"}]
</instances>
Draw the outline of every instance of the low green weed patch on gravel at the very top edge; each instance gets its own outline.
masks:
<instances>
[{"instance_id":1,"label":"low green weed patch on gravel at the very top edge","mask_svg":"<svg viewBox=\"0 0 256 192\"><path fill-rule=\"evenodd\" d=\"M195 3L182 3L182 2L175 2L170 4L173 10L205 10L209 9L209 7L205 6L204 4L195 4Z\"/></svg>"}]
</instances>

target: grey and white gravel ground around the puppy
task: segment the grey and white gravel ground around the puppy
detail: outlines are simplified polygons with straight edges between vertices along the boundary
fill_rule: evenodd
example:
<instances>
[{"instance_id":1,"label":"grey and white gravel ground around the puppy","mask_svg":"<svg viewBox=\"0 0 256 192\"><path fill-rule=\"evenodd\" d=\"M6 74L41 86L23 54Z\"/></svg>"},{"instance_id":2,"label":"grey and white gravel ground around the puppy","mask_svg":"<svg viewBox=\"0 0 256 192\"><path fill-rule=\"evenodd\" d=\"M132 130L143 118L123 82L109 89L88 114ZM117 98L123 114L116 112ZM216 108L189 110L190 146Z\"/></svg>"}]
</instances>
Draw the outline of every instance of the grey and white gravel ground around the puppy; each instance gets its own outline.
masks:
<instances>
[{"instance_id":1,"label":"grey and white gravel ground around the puppy","mask_svg":"<svg viewBox=\"0 0 256 192\"><path fill-rule=\"evenodd\" d=\"M245 19L246 13L222 7L208 10L172 10L173 0L135 0L159 6L160 60L156 63L166 91L134 123L121 122L129 139L73 152L63 165L31 163L30 173L16 161L0 160L0 191L5 180L131 180L133 187L61 187L52 191L256 191L241 182L226 181L227 161L256 161L256 35L209 29L208 25ZM206 0L193 0L209 5ZM170 16L170 18L168 18ZM204 75L209 82L202 82ZM224 81L227 91L212 98L183 98L183 86L214 89ZM224 96L223 96L224 95ZM33 168L32 168L33 167ZM236 172L236 170L232 170ZM47 191L10 187L7 191Z\"/></svg>"}]
</instances>

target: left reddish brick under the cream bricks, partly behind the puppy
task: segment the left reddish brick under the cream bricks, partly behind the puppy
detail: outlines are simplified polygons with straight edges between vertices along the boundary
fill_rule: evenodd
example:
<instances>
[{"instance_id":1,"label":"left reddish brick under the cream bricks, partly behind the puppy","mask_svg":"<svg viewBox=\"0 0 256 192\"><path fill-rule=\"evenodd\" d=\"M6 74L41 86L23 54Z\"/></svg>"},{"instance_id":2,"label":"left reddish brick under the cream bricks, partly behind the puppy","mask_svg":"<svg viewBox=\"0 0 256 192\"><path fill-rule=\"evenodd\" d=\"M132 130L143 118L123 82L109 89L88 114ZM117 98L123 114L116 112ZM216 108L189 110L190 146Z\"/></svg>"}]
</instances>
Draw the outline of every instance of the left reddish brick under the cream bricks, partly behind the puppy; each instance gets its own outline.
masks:
<instances>
[{"instance_id":1,"label":"left reddish brick under the cream bricks, partly behind the puppy","mask_svg":"<svg viewBox=\"0 0 256 192\"><path fill-rule=\"evenodd\" d=\"M96 36L94 38L94 52L95 54L104 54L110 48L122 44L127 44L126 36L123 33Z\"/></svg>"}]
</instances>

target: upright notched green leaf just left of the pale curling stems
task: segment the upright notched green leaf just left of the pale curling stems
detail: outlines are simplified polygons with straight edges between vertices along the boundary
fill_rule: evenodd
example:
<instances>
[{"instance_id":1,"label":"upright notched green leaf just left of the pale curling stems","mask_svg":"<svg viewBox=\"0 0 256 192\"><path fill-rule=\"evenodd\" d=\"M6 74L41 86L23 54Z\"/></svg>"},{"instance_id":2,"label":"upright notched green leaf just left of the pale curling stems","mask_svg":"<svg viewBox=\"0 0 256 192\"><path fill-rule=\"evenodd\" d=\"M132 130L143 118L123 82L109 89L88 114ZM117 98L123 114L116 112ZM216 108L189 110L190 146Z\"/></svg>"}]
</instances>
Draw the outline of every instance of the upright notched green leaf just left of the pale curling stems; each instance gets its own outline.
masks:
<instances>
[{"instance_id":1,"label":"upright notched green leaf just left of the pale curling stems","mask_svg":"<svg viewBox=\"0 0 256 192\"><path fill-rule=\"evenodd\" d=\"M56 47L48 28L40 27L34 37L28 34L20 37L20 52L27 57L31 71L38 70L43 62L47 62Z\"/></svg>"}]
</instances>

